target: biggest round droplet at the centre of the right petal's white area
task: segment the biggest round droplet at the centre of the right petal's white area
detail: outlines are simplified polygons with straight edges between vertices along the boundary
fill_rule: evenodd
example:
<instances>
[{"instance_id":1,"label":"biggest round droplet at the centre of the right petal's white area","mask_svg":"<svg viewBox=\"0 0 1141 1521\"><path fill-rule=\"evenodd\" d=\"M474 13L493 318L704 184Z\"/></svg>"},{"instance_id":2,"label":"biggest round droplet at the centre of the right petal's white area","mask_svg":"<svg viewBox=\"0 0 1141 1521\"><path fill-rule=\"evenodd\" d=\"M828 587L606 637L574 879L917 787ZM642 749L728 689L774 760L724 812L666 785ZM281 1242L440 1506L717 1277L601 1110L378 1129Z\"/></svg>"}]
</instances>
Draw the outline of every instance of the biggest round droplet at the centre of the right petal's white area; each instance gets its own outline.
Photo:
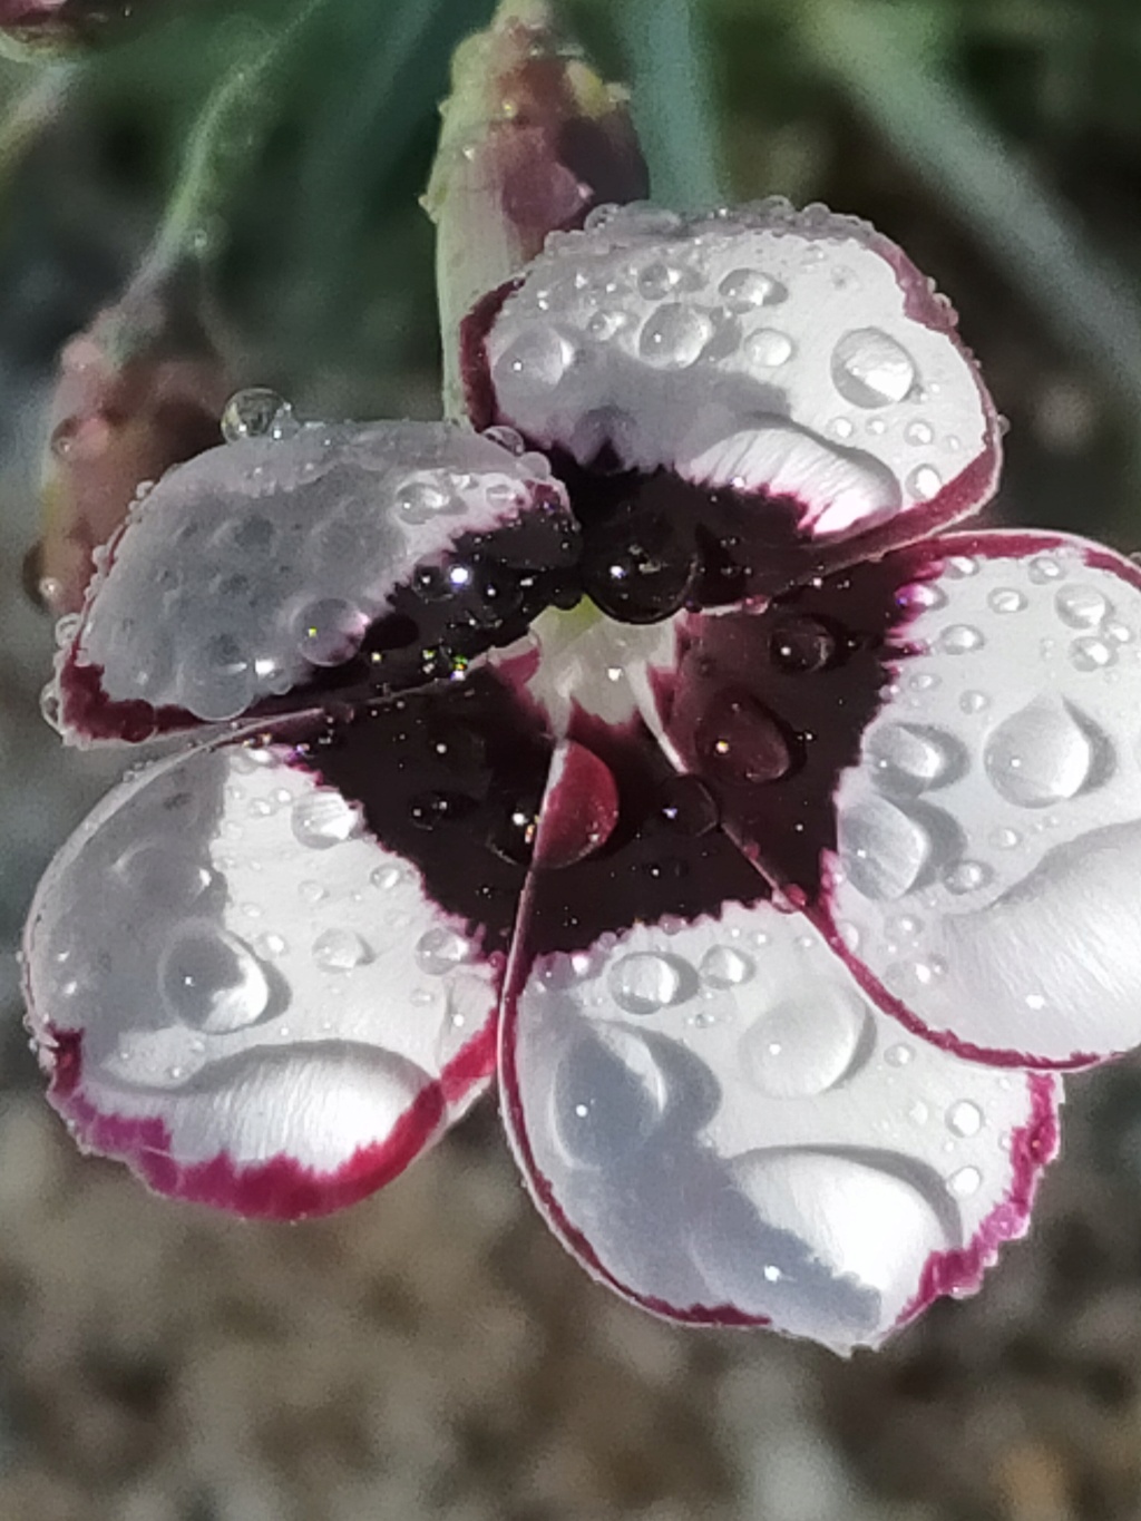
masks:
<instances>
[{"instance_id":1,"label":"biggest round droplet at the centre of the right petal's white area","mask_svg":"<svg viewBox=\"0 0 1141 1521\"><path fill-rule=\"evenodd\" d=\"M1073 709L1038 697L995 729L983 751L995 791L1019 808L1047 808L1085 786L1094 747Z\"/></svg>"}]
</instances>

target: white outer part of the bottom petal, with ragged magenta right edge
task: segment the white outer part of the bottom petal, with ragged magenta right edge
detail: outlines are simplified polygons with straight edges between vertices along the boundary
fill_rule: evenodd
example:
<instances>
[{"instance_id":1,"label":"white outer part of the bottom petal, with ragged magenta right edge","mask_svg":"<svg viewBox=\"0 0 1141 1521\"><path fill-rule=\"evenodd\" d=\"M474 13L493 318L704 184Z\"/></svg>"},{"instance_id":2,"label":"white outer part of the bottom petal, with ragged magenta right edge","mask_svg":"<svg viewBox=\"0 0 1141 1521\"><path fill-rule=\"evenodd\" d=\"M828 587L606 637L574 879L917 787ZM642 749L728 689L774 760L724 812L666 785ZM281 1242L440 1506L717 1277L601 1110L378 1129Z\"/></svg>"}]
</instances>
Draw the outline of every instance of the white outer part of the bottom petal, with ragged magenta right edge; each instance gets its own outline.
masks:
<instances>
[{"instance_id":1,"label":"white outer part of the bottom petal, with ragged magenta right edge","mask_svg":"<svg viewBox=\"0 0 1141 1521\"><path fill-rule=\"evenodd\" d=\"M1060 1084L904 1037L800 916L727 903L548 945L528 916L508 1133L554 1232L621 1294L849 1352L975 1290L1024 1234Z\"/></svg>"}]
</instances>

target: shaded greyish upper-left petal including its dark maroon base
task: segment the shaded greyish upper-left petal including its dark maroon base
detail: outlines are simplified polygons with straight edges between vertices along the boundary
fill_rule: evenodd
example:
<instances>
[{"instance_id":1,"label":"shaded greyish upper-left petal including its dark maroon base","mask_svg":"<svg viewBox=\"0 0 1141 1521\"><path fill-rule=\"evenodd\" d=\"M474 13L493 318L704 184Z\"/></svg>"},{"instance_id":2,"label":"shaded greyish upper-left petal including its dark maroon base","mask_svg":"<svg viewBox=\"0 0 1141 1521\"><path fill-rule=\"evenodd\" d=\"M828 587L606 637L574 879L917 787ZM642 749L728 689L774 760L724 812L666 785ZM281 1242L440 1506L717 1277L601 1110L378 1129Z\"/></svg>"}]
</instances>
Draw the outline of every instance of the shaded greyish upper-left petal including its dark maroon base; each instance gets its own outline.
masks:
<instances>
[{"instance_id":1,"label":"shaded greyish upper-left petal including its dark maroon base","mask_svg":"<svg viewBox=\"0 0 1141 1521\"><path fill-rule=\"evenodd\" d=\"M231 435L166 475L111 545L59 657L70 738L447 674L517 639L577 557L546 462L493 438L429 423Z\"/></svg>"}]
</instances>

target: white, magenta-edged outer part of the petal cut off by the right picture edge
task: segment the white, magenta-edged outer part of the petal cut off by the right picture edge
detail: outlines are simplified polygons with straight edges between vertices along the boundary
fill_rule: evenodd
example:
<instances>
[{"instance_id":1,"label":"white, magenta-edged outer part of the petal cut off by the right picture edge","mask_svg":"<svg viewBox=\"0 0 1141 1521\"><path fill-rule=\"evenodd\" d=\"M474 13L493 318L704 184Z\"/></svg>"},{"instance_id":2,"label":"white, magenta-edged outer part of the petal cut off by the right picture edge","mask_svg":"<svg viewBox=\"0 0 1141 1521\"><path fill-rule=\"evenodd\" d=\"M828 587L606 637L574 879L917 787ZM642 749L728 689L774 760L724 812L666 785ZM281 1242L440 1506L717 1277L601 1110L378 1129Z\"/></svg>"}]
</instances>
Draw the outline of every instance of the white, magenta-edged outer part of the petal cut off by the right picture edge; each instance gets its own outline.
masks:
<instances>
[{"instance_id":1,"label":"white, magenta-edged outer part of the petal cut off by the right picture edge","mask_svg":"<svg viewBox=\"0 0 1141 1521\"><path fill-rule=\"evenodd\" d=\"M913 551L913 554L919 554ZM1141 1040L1141 576L1082 540L926 548L837 786L828 920L936 1040L1083 1065Z\"/></svg>"}]
</instances>

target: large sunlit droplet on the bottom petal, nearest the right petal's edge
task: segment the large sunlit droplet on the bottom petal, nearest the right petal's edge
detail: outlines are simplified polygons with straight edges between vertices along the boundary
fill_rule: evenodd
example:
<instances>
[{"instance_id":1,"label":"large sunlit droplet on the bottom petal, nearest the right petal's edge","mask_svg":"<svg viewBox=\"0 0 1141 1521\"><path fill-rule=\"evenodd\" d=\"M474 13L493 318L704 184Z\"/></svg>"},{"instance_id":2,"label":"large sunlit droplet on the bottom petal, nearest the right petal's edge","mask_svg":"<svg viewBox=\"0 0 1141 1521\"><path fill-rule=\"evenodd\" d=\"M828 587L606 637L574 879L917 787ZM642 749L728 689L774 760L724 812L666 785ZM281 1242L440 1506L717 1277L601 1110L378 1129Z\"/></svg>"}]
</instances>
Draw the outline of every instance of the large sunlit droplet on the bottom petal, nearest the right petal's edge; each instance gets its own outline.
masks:
<instances>
[{"instance_id":1,"label":"large sunlit droplet on the bottom petal, nearest the right petal's edge","mask_svg":"<svg viewBox=\"0 0 1141 1521\"><path fill-rule=\"evenodd\" d=\"M741 1037L745 1077L773 1098L823 1094L852 1065L866 1019L850 989L814 984L768 1010Z\"/></svg>"}]
</instances>

